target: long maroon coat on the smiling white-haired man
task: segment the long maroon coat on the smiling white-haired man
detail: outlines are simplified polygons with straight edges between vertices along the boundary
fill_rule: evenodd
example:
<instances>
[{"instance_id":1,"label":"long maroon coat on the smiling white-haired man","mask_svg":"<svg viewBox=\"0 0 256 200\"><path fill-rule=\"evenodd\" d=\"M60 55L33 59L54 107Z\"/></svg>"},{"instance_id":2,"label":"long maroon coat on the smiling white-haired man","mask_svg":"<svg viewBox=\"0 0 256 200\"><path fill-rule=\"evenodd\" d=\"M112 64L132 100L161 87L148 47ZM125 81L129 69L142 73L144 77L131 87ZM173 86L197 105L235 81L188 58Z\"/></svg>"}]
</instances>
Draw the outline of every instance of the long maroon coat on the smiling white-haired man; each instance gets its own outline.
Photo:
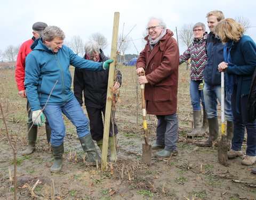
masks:
<instances>
[{"instance_id":1,"label":"long maroon coat on the smiling white-haired man","mask_svg":"<svg viewBox=\"0 0 256 200\"><path fill-rule=\"evenodd\" d=\"M145 84L147 114L171 115L177 113L179 47L173 33L166 35L151 50L147 44L140 52L136 67L143 67L149 83Z\"/></svg>"}]
</instances>

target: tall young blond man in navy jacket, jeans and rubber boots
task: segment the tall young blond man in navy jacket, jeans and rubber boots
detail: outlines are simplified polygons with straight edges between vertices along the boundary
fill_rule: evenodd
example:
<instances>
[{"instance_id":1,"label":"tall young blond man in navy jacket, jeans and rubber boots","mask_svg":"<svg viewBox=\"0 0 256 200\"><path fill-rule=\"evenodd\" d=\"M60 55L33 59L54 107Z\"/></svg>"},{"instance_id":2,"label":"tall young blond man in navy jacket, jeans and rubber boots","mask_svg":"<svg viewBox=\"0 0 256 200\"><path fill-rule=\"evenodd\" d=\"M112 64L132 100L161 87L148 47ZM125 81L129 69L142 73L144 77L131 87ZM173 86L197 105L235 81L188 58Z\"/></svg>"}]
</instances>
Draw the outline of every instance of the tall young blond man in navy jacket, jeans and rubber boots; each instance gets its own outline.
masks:
<instances>
[{"instance_id":1,"label":"tall young blond man in navy jacket, jeans and rubber boots","mask_svg":"<svg viewBox=\"0 0 256 200\"><path fill-rule=\"evenodd\" d=\"M213 33L214 27L224 19L221 11L215 10L206 14L210 34L206 39L207 61L204 68L204 101L205 110L209 125L209 138L205 141L196 143L199 147L211 147L212 142L216 142L219 132L217 115L217 99L221 102L221 74L218 70L220 62L224 61L223 47L219 37ZM227 142L228 149L231 147L233 138L233 114L231 110L231 96L225 93L225 116L227 118Z\"/></svg>"}]
</instances>

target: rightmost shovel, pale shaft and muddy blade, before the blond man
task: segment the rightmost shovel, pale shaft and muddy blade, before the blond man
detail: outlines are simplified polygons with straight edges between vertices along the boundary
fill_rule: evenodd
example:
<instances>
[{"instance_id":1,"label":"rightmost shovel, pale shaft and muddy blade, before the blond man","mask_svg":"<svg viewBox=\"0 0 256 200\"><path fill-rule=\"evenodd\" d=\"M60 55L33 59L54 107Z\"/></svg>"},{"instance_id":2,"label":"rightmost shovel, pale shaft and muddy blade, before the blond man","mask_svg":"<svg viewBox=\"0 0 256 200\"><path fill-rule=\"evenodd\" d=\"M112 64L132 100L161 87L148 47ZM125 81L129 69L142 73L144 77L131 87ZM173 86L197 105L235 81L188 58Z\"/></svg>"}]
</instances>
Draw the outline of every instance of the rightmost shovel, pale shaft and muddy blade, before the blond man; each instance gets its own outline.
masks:
<instances>
[{"instance_id":1,"label":"rightmost shovel, pale shaft and muddy blade, before the blond man","mask_svg":"<svg viewBox=\"0 0 256 200\"><path fill-rule=\"evenodd\" d=\"M218 161L220 164L228 166L228 145L225 133L225 87L224 72L221 72L221 139L218 140Z\"/></svg>"}]
</instances>

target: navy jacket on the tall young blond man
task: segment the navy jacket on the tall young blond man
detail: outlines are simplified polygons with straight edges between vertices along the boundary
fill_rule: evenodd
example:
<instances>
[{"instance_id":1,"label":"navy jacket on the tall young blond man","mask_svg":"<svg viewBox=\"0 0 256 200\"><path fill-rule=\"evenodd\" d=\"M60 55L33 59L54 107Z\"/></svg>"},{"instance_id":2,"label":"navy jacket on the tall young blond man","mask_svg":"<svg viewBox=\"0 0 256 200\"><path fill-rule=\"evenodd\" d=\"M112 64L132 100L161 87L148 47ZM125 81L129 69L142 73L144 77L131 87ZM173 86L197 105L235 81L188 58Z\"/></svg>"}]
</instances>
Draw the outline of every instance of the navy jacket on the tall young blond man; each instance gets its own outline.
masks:
<instances>
[{"instance_id":1,"label":"navy jacket on the tall young blond man","mask_svg":"<svg viewBox=\"0 0 256 200\"><path fill-rule=\"evenodd\" d=\"M207 85L221 85L221 75L218 70L219 63L224 61L224 45L212 32L206 39L207 61L204 68L204 82Z\"/></svg>"}]
</instances>

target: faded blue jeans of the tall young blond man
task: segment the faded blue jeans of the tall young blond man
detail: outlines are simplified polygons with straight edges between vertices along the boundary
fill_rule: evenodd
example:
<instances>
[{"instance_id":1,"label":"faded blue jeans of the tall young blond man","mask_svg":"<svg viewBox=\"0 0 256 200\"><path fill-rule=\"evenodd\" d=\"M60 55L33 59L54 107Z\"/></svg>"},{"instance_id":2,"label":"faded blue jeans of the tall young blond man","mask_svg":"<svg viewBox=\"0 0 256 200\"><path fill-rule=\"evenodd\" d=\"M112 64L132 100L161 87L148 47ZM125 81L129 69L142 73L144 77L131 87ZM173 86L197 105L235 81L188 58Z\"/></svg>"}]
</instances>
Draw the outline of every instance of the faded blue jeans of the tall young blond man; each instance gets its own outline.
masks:
<instances>
[{"instance_id":1,"label":"faded blue jeans of the tall young blond man","mask_svg":"<svg viewBox=\"0 0 256 200\"><path fill-rule=\"evenodd\" d=\"M207 118L217 118L217 104L221 102L221 86L207 85L204 83L204 102ZM233 121L233 114L231 109L231 95L225 92L225 117L227 121Z\"/></svg>"}]
</instances>

